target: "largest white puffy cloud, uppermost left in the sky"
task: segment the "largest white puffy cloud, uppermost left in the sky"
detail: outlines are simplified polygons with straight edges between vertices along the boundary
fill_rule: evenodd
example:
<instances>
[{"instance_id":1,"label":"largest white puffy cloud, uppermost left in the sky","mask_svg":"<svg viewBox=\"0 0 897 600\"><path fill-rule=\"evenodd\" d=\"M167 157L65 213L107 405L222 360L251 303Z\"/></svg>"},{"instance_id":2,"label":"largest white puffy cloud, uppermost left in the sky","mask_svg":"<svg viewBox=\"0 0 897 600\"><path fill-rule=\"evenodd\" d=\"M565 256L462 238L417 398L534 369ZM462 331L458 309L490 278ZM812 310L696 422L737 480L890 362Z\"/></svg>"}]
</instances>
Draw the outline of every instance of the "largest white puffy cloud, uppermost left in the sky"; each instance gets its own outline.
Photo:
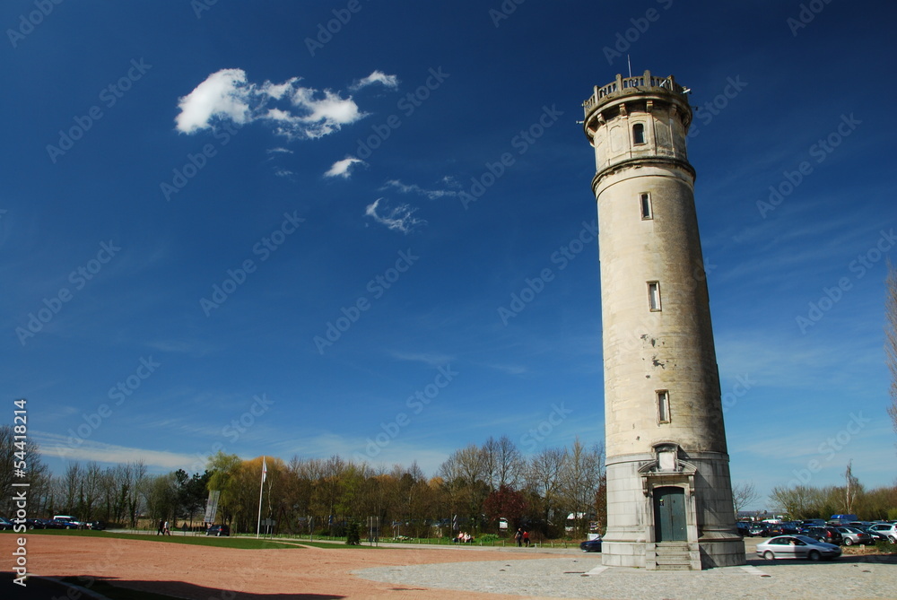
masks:
<instances>
[{"instance_id":1,"label":"largest white puffy cloud, uppermost left in the sky","mask_svg":"<svg viewBox=\"0 0 897 600\"><path fill-rule=\"evenodd\" d=\"M288 139L316 139L365 116L352 97L301 87L299 82L300 77L292 77L258 85L249 82L242 69L222 69L179 100L176 129L194 134L211 128L215 120L237 125L263 121ZM275 101L281 106L270 106Z\"/></svg>"}]
</instances>

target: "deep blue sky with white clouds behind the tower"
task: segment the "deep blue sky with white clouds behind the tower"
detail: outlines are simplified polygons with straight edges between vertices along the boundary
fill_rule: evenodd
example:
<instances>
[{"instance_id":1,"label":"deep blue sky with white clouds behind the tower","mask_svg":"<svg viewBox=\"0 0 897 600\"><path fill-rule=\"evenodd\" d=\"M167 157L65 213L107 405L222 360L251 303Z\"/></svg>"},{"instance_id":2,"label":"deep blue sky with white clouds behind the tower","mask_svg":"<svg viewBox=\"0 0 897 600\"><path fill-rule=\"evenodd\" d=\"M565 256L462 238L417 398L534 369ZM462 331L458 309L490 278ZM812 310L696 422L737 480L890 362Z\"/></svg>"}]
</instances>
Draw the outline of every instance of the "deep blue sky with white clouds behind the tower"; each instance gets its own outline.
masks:
<instances>
[{"instance_id":1,"label":"deep blue sky with white clouds behind the tower","mask_svg":"<svg viewBox=\"0 0 897 600\"><path fill-rule=\"evenodd\" d=\"M809 4L4 3L9 421L57 473L600 442L577 121L629 54L692 89L734 481L893 483L897 14Z\"/></svg>"}]
</instances>

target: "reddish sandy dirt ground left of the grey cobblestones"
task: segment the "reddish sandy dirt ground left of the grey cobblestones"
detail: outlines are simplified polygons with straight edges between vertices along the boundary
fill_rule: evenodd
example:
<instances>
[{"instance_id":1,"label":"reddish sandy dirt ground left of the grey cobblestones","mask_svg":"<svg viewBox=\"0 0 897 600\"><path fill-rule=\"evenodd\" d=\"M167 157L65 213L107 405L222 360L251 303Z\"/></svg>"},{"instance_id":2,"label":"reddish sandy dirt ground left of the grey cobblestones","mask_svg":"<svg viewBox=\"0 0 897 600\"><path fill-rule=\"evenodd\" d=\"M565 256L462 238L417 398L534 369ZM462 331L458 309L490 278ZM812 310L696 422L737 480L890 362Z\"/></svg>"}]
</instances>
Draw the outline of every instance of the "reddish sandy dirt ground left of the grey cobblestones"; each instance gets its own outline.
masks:
<instances>
[{"instance_id":1,"label":"reddish sandy dirt ground left of the grey cobblestones","mask_svg":"<svg viewBox=\"0 0 897 600\"><path fill-rule=\"evenodd\" d=\"M12 543L2 536L2 552ZM121 587L196 600L285 598L428 598L457 600L459 592L379 583L353 570L459 561L556 558L542 552L475 551L466 548L334 548L234 550L136 540L28 536L28 570L48 577L104 578ZM0 570L9 570L0 568ZM91 580L83 586L90 588ZM461 592L465 598L519 597Z\"/></svg>"}]
</instances>

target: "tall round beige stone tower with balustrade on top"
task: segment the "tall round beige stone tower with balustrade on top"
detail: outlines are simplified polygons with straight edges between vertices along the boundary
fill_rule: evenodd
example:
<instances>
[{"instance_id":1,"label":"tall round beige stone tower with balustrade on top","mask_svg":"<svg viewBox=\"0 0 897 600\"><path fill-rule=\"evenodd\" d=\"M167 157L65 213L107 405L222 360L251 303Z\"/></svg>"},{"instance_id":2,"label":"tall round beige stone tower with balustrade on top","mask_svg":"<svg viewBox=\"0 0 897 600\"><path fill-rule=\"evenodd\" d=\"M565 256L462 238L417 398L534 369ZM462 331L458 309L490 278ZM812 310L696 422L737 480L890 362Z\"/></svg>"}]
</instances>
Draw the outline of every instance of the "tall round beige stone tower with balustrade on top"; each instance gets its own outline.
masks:
<instances>
[{"instance_id":1,"label":"tall round beige stone tower with balustrade on top","mask_svg":"<svg viewBox=\"0 0 897 600\"><path fill-rule=\"evenodd\" d=\"M604 564L744 564L685 152L692 109L649 71L596 86L583 108L601 229Z\"/></svg>"}]
</instances>

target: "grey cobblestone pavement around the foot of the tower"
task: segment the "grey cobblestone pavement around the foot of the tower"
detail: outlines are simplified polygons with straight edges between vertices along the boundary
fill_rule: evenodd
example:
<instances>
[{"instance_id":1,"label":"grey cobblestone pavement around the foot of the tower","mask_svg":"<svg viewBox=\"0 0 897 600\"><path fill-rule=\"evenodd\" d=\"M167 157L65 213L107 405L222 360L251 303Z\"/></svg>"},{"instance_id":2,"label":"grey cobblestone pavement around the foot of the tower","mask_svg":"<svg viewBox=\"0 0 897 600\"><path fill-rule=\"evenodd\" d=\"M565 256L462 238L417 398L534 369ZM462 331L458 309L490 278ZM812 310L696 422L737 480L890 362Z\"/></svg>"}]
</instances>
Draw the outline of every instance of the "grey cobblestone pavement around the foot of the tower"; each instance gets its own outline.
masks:
<instances>
[{"instance_id":1,"label":"grey cobblestone pavement around the foot of the tower","mask_svg":"<svg viewBox=\"0 0 897 600\"><path fill-rule=\"evenodd\" d=\"M479 561L354 571L374 581L540 598L723 600L727 598L897 598L897 561L748 560L744 567L694 571L604 568L600 555Z\"/></svg>"}]
</instances>

